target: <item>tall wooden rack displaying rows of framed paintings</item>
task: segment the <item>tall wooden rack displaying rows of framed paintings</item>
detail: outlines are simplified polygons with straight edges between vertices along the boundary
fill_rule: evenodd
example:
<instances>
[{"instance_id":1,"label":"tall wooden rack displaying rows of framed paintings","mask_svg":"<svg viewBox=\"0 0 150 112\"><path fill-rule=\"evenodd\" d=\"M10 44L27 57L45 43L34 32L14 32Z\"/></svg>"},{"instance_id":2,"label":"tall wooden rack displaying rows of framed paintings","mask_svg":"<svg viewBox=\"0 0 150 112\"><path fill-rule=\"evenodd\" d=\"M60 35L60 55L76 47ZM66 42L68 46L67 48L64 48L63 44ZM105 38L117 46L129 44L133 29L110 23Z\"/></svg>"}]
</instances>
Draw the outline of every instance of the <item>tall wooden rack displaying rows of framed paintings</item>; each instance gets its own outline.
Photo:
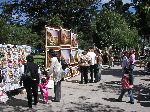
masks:
<instances>
[{"instance_id":1,"label":"tall wooden rack displaying rows of framed paintings","mask_svg":"<svg viewBox=\"0 0 150 112\"><path fill-rule=\"evenodd\" d=\"M53 49L58 52L59 56L63 58L69 65L66 68L65 78L73 77L78 72L78 42L77 34L72 33L71 30L63 28L46 28L46 55L45 66L46 69L50 67L48 51Z\"/></svg>"}]
</instances>

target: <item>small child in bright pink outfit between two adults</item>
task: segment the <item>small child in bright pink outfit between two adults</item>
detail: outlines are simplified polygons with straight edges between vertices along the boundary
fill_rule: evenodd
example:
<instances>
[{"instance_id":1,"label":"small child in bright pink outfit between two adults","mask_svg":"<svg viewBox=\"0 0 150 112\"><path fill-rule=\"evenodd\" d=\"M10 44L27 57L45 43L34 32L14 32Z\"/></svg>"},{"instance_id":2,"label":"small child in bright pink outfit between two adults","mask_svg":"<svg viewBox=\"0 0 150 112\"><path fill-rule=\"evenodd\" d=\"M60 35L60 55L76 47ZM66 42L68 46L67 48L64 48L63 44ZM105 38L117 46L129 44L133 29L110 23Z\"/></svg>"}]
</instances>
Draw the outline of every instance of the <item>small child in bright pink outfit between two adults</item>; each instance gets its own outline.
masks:
<instances>
[{"instance_id":1,"label":"small child in bright pink outfit between two adults","mask_svg":"<svg viewBox=\"0 0 150 112\"><path fill-rule=\"evenodd\" d=\"M41 79L41 83L39 84L39 87L40 87L41 94L43 96L44 103L48 103L48 87L47 87L47 84L48 84L48 80L45 77L43 77Z\"/></svg>"}]
</instances>

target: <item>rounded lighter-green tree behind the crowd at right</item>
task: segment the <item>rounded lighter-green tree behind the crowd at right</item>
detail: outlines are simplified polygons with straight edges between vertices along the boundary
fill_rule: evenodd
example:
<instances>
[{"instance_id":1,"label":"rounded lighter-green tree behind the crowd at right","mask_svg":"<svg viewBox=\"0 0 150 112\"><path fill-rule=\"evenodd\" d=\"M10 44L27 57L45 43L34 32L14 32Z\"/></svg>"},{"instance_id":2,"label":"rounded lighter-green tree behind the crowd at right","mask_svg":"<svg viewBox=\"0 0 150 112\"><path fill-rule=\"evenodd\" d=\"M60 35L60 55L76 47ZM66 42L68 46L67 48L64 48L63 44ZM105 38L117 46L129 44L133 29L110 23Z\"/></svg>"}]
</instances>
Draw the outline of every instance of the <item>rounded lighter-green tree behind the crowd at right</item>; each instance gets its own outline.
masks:
<instances>
[{"instance_id":1,"label":"rounded lighter-green tree behind the crowd at right","mask_svg":"<svg viewBox=\"0 0 150 112\"><path fill-rule=\"evenodd\" d=\"M138 33L126 20L114 11L103 9L96 16L94 42L99 47L120 48L137 46Z\"/></svg>"}]
</instances>

